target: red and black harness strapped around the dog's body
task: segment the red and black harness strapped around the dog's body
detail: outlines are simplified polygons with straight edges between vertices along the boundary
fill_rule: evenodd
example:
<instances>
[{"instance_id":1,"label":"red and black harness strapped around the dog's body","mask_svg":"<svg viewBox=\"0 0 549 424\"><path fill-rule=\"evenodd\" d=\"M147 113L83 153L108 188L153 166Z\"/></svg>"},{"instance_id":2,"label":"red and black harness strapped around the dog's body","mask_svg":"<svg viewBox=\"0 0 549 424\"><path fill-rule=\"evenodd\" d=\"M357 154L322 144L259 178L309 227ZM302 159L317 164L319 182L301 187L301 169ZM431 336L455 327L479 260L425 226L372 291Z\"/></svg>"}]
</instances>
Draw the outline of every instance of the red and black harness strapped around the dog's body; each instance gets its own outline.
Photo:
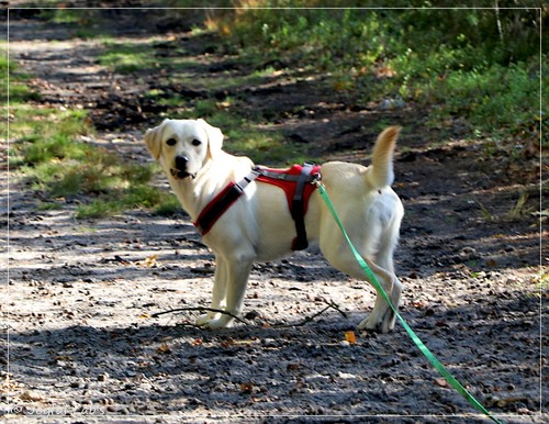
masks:
<instances>
[{"instance_id":1,"label":"red and black harness strapped around the dog's body","mask_svg":"<svg viewBox=\"0 0 549 424\"><path fill-rule=\"evenodd\" d=\"M255 167L242 181L229 182L215 196L202 210L194 222L194 226L202 235L206 235L221 215L244 193L246 187L257 179L284 190L288 208L298 233L298 236L292 242L292 250L302 250L309 245L304 216L307 211L309 199L316 189L313 182L321 178L320 170L320 165L312 164L293 165L285 170Z\"/></svg>"}]
</instances>

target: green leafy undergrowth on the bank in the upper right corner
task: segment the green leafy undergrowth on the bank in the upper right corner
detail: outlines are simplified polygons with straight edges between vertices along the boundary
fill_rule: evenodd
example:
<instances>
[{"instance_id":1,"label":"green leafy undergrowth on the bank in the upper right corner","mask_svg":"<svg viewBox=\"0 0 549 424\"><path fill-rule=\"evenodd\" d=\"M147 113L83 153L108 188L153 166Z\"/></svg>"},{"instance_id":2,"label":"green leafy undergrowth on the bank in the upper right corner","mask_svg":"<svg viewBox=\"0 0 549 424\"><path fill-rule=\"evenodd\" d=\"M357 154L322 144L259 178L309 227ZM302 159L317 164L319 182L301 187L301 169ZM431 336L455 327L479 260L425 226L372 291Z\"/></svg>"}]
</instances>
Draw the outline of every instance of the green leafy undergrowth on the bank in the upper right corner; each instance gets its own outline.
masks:
<instances>
[{"instance_id":1,"label":"green leafy undergrowth on the bank in the upper right corner","mask_svg":"<svg viewBox=\"0 0 549 424\"><path fill-rule=\"evenodd\" d=\"M266 9L216 16L227 48L267 52L332 75L336 90L365 102L419 101L434 107L434 118L460 115L485 132L535 136L539 121L545 124L547 111L540 115L538 107L540 60L545 66L549 60L546 52L540 57L540 27L549 9L539 1L503 0L498 10L494 4L452 9L460 4L451 1L436 4L448 9L434 9L425 0L391 4L403 9L350 9L376 8L374 1L255 3ZM326 5L341 9L322 9ZM299 9L304 7L311 9ZM547 32L541 36L546 49Z\"/></svg>"}]
</instances>

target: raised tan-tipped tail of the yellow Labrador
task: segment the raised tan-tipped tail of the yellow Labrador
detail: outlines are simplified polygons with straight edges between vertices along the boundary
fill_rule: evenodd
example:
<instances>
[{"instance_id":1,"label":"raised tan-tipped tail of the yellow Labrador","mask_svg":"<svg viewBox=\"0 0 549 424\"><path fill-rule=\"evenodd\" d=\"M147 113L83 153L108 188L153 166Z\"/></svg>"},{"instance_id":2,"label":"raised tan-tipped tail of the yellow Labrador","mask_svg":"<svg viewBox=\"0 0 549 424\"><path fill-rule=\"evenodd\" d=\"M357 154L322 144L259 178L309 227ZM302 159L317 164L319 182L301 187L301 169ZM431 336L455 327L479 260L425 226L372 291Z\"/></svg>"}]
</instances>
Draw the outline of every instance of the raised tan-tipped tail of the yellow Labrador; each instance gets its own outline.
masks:
<instances>
[{"instance_id":1,"label":"raised tan-tipped tail of the yellow Labrador","mask_svg":"<svg viewBox=\"0 0 549 424\"><path fill-rule=\"evenodd\" d=\"M368 167L366 175L368 182L373 186L376 190L393 183L393 153L400 132L400 126L390 126L384 130L376 141L372 154L372 165Z\"/></svg>"}]
</instances>

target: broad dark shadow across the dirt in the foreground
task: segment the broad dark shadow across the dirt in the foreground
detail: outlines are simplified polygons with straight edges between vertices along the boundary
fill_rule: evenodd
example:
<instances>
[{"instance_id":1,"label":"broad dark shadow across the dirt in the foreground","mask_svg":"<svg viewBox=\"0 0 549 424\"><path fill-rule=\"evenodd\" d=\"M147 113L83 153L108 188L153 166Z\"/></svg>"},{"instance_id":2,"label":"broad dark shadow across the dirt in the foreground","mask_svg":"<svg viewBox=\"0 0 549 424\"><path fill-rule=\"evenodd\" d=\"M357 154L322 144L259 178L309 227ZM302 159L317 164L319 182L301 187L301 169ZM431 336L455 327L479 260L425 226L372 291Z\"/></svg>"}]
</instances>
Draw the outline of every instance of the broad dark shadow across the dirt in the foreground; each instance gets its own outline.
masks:
<instances>
[{"instance_id":1,"label":"broad dark shadow across the dirt in the foreground","mask_svg":"<svg viewBox=\"0 0 549 424\"><path fill-rule=\"evenodd\" d=\"M474 395L496 413L514 413L539 399L537 305L534 297L513 293L488 305L471 302L430 312L405 308L403 314ZM357 344L341 343L351 326L329 313L285 328L237 325L208 332L148 321L38 327L10 334L10 368L13 381L27 388L48 391L55 386L57 392L64 386L78 387L81 395L70 399L72 403L107 404L121 415L274 415L278 408L284 414L343 419L472 412L438 383L440 376L399 324L389 335L359 333ZM22 358L32 359L32 367L29 360L20 362ZM163 408L147 411L149 400ZM48 401L68 400L55 394Z\"/></svg>"}]
</instances>

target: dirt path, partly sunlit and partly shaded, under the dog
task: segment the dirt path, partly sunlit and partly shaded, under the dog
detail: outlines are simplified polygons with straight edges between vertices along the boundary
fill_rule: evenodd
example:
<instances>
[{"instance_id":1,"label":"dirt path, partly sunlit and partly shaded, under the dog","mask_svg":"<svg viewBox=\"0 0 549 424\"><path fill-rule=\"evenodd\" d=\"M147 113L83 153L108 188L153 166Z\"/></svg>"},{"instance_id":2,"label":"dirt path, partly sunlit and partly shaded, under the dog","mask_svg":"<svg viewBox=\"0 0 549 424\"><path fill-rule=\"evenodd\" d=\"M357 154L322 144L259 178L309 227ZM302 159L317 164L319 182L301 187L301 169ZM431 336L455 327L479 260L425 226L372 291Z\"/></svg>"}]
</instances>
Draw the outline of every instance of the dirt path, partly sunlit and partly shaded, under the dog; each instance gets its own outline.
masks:
<instances>
[{"instance_id":1,"label":"dirt path, partly sunlit and partly shaded, under the dog","mask_svg":"<svg viewBox=\"0 0 549 424\"><path fill-rule=\"evenodd\" d=\"M138 93L155 76L101 67L102 44L71 38L63 25L36 33L35 20L10 24L10 54L35 76L43 103L90 109L100 130L93 142L149 160L142 134L159 112ZM146 35L135 25L123 36L161 37L148 25ZM212 80L227 69L249 72L234 57L205 52L211 38L175 36ZM272 111L277 129L315 144L325 158L366 161L380 121L406 126L395 166L406 208L396 254L403 316L502 421L545 422L539 234L535 216L509 213L522 192L535 204L533 172L502 152L486 155L482 141L464 141L459 122L442 132L412 104L360 107L327 91L317 76L281 75L235 87L234 94L245 94L242 108ZM7 181L5 168L1 178ZM198 313L152 317L209 303L213 258L183 213L75 221L74 204L37 211L36 196L21 190L19 178L14 170L1 198L3 210L10 203L2 217L10 242L1 252L9 269L0 288L0 414L10 422L485 422L400 325L389 335L360 333L356 344L345 342L374 293L329 268L314 247L256 265L249 324L205 332L189 325ZM329 309L301 325L327 302L346 317Z\"/></svg>"}]
</instances>

